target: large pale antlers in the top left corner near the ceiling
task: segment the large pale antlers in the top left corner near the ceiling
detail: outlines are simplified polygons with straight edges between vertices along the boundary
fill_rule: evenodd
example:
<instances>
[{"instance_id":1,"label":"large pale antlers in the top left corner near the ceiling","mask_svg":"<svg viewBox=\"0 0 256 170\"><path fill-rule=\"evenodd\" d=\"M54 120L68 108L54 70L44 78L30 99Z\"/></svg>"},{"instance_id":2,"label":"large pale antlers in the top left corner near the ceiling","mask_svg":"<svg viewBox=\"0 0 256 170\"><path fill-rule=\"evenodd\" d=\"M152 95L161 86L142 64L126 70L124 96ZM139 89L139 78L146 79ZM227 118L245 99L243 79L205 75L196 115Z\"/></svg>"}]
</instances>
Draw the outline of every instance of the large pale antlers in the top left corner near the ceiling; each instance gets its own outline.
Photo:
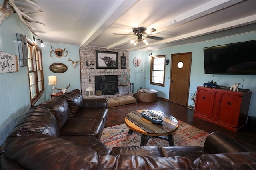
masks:
<instances>
[{"instance_id":1,"label":"large pale antlers in the top left corner near the ceiling","mask_svg":"<svg viewBox=\"0 0 256 170\"><path fill-rule=\"evenodd\" d=\"M38 11L32 11L32 12L26 12L25 10L19 10L20 7L17 7L14 3L15 0L4 0L3 2L3 6L0 5L0 10L1 10L1 16L0 16L0 25L2 24L2 22L4 21L5 17L10 16L11 14L17 13L18 17L20 18L20 20L26 24L29 28L29 30L35 35L36 32L31 28L31 26L29 25L29 22L35 22L35 23L39 23L45 26L44 23L39 22L39 21L35 21L32 18L30 18L28 15L26 14L34 14L37 12L42 12L42 10L38 10ZM36 5L34 2L30 1L30 0L18 0L18 1L22 1L22 2L28 2L38 8L40 8L38 5ZM24 9L24 8L20 8L20 9ZM40 8L41 9L41 8Z\"/></svg>"}]
</instances>

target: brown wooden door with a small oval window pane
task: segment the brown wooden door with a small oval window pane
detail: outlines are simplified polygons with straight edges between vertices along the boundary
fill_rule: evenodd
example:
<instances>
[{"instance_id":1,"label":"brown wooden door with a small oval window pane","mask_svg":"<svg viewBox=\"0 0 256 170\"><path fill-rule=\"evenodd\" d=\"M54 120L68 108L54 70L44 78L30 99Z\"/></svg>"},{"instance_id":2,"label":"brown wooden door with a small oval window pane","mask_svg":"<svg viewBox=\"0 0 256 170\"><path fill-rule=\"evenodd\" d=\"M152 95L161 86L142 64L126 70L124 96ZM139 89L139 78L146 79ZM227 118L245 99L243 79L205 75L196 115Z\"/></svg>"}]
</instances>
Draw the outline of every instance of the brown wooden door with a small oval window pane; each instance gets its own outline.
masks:
<instances>
[{"instance_id":1,"label":"brown wooden door with a small oval window pane","mask_svg":"<svg viewBox=\"0 0 256 170\"><path fill-rule=\"evenodd\" d=\"M172 54L170 102L188 106L192 52Z\"/></svg>"}]
</instances>

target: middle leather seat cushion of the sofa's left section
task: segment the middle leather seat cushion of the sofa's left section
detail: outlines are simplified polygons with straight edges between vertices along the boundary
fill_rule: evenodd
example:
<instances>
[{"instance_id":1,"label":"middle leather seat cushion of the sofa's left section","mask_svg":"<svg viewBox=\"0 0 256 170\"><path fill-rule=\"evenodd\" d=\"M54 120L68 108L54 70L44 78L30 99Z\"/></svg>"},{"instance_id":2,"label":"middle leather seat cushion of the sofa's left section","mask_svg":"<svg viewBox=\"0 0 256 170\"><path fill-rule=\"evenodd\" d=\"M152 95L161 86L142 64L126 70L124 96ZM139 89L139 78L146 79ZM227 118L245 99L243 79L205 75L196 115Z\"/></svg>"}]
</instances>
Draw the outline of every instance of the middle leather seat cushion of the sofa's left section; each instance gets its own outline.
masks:
<instances>
[{"instance_id":1,"label":"middle leather seat cushion of the sofa's left section","mask_svg":"<svg viewBox=\"0 0 256 170\"><path fill-rule=\"evenodd\" d=\"M104 129L103 119L70 119L60 130L61 136L92 135L100 139Z\"/></svg>"}]
</instances>

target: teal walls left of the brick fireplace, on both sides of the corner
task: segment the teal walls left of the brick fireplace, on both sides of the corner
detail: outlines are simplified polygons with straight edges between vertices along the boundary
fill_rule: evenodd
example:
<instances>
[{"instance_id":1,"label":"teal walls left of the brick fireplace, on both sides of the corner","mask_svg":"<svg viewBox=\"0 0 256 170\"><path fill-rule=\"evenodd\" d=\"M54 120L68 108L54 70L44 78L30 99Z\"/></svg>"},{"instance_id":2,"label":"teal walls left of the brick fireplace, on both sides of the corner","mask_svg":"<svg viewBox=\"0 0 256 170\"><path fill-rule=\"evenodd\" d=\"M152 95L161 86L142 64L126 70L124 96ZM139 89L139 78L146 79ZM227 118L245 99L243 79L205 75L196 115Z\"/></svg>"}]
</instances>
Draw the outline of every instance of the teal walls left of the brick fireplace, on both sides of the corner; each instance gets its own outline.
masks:
<instances>
[{"instance_id":1,"label":"teal walls left of the brick fireplace, on both sides of the corner","mask_svg":"<svg viewBox=\"0 0 256 170\"><path fill-rule=\"evenodd\" d=\"M16 14L6 18L0 26L0 51L18 55L18 43L16 33L28 36L33 40L33 34L28 27L18 20ZM40 41L35 42L40 46ZM50 57L51 47L54 49L61 48L68 51L67 57ZM79 60L79 46L78 45L65 45L44 42L42 49L42 62L44 70L44 87L45 92L36 102L38 105L49 98L52 93L52 86L48 85L48 76L57 76L57 87L64 88L70 83L69 91L72 89L81 89L80 83L80 63L74 69L71 64L68 64L68 58L71 57L73 61ZM49 66L52 63L64 63L67 65L68 70L65 73L52 73ZM4 142L12 128L18 123L20 117L30 109L30 91L28 84L28 67L18 67L19 71L15 73L1 73L0 74L0 142ZM59 92L56 90L56 92Z\"/></svg>"}]
</instances>

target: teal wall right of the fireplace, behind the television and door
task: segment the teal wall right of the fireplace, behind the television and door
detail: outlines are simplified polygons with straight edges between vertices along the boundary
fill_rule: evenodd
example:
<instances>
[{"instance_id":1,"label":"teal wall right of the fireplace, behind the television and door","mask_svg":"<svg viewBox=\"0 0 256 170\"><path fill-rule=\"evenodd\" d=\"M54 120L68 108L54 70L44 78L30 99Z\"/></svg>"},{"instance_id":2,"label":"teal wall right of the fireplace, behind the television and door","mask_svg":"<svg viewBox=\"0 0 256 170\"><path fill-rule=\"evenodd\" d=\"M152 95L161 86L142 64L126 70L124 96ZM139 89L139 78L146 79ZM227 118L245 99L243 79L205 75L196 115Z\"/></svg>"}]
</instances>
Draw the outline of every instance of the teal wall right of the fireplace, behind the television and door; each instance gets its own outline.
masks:
<instances>
[{"instance_id":1,"label":"teal wall right of the fireplace, behind the television and door","mask_svg":"<svg viewBox=\"0 0 256 170\"><path fill-rule=\"evenodd\" d=\"M213 75L212 74L204 74L204 47L210 47L215 45L222 45L228 43L236 43L236 42L243 42L249 40L256 39L256 32L250 32L245 34L240 34L236 36L230 36L226 38L218 38L215 40L209 40L205 42L197 42L185 45L178 45L173 46L170 48L160 49L156 51L150 52L130 52L130 58L134 58L137 56L141 56L142 62L146 62L146 83L145 88L156 89L158 91L158 96L164 99L169 99L169 89L170 89L170 64L166 65L166 72L165 72L165 86L157 86L150 84L150 57L148 56L149 53L153 53L153 55L166 55L166 59L170 59L171 62L171 55L175 53L185 53L185 52L192 52L192 66L191 66L191 75L190 75L190 89L189 93L196 92L197 86L202 86L203 83L211 81L214 78L214 81L217 82L218 85L229 86L234 83L241 83L239 88L250 89L252 91L252 97L250 101L250 108L249 108L249 115L256 116L256 75ZM143 56L144 55L144 56ZM130 65L132 65L132 60L130 60ZM135 75L132 73L132 66L131 66L131 82ZM136 75L138 76L138 75ZM243 80L244 79L244 80ZM143 84L143 78L137 79L134 81L134 87L138 87ZM138 83L138 85L137 85ZM242 87L243 83L243 87ZM192 101L189 98L188 105L192 105Z\"/></svg>"}]
</instances>

